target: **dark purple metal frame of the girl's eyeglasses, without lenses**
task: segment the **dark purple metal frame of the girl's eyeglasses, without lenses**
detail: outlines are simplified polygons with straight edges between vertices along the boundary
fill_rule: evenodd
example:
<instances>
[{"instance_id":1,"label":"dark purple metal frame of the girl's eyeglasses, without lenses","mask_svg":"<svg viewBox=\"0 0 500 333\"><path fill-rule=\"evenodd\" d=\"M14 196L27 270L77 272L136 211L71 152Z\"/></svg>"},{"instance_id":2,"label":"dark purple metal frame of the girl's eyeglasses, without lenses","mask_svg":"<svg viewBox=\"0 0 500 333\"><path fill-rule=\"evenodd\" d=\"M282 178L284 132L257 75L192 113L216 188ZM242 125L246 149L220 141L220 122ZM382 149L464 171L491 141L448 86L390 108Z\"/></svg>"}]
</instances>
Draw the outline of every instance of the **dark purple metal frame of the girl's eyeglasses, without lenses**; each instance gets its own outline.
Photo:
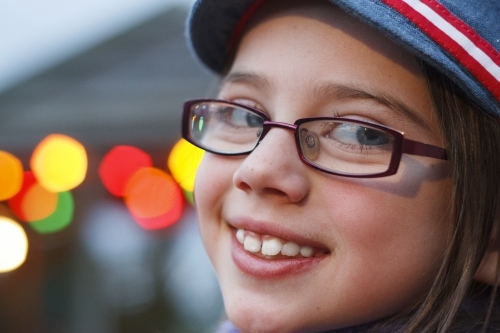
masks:
<instances>
[{"instance_id":1,"label":"dark purple metal frame of the girl's eyeglasses, without lenses","mask_svg":"<svg viewBox=\"0 0 500 333\"><path fill-rule=\"evenodd\" d=\"M244 110L250 111L255 113L257 116L261 117L264 121L262 123L262 133L259 135L257 143L255 146L248 151L244 152L239 152L239 153L224 153L220 151L216 151L213 149L205 148L201 146L195 139L192 138L190 135L190 124L191 124L191 108L195 104L201 104L201 103L224 103L228 105L232 105L237 108L242 108ZM393 149L392 149L392 154L391 154L391 160L389 162L388 168L384 172L376 173L376 174L346 174L342 172L337 172L337 171L331 171L327 170L320 165L317 165L313 163L312 161L309 161L306 159L304 156L304 153L302 152L301 143L300 143L300 134L299 134L299 126L303 123L307 123L310 121L317 121L317 120L333 120L333 121L341 121L341 122L348 122L348 123L353 123L361 126L368 126L372 127L384 132L387 132L388 134L392 135L394 138L393 141ZM273 127L278 127L278 128L283 128L283 129L288 129L292 130L294 133L295 137L295 148L297 149L297 153L299 155L299 158L304 162L305 164L311 166L312 168L319 170L321 172L325 172L327 174L331 175L336 175L336 176L341 176L341 177L349 177L349 178L380 178L380 177L387 177L391 176L397 173L399 169L399 164L401 162L401 157L403 154L410 154L410 155L415 155L415 156L423 156L423 157L431 157L435 159L440 159L440 160L448 160L447 156L447 150L445 148L437 147L434 145L430 145L427 143L419 142L419 141L414 141L411 139L406 139L404 137L404 132L400 132L398 130L395 130L393 128L380 125L380 124L375 124L367 121L362 121L362 120L357 120L357 119L350 119L350 118L343 118L343 117L306 117L306 118L299 118L295 120L293 124L290 123L284 123L284 122L279 122L279 121L272 121L269 116L260 111L259 109L247 106L247 105L242 105L234 102L229 102L225 100L220 100L220 99L192 99L184 102L184 110L183 110L183 115L182 115L182 137L190 142L191 144L195 145L196 147L203 149L205 151L208 151L213 154L217 155L223 155L223 156L242 156L242 155L249 155L252 151L259 146L259 144L262 142L262 140L265 138L267 133L271 130Z\"/></svg>"}]
</instances>

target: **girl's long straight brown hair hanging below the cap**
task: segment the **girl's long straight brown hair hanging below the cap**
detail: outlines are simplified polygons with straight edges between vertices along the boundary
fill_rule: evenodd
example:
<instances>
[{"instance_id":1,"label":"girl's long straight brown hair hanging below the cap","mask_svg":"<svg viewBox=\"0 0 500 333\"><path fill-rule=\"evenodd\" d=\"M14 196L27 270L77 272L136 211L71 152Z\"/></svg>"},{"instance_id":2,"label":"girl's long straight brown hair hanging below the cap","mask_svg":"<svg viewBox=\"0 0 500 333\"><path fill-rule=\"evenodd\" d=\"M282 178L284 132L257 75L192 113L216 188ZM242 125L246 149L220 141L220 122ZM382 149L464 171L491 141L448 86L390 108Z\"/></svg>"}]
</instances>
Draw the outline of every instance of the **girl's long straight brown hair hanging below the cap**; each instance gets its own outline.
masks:
<instances>
[{"instance_id":1,"label":"girl's long straight brown hair hanging below the cap","mask_svg":"<svg viewBox=\"0 0 500 333\"><path fill-rule=\"evenodd\" d=\"M499 223L500 123L444 74L424 62L421 67L448 142L454 182L454 228L440 271L427 295L411 311L409 320L406 313L406 319L398 316L390 323L395 324L394 328L404 327L405 332L419 333L486 332L493 323L498 330L497 287L478 285L473 277L488 246L497 238L493 231ZM467 302L472 302L472 308L464 306Z\"/></svg>"}]
</instances>

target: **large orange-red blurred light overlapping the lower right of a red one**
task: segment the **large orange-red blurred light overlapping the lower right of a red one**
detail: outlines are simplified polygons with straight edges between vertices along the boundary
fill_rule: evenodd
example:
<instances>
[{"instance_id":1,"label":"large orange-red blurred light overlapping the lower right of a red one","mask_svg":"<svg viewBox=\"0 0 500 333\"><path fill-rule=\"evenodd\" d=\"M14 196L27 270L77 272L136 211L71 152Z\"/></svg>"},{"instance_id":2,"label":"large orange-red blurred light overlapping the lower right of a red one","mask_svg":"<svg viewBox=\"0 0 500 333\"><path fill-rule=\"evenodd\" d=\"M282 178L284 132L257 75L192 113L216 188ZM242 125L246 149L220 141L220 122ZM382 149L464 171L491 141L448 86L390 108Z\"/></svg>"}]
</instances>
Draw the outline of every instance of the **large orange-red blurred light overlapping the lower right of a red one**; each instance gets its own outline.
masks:
<instances>
[{"instance_id":1,"label":"large orange-red blurred light overlapping the lower right of a red one","mask_svg":"<svg viewBox=\"0 0 500 333\"><path fill-rule=\"evenodd\" d=\"M145 229L161 229L177 222L184 200L174 179L165 171L142 168L128 181L125 203L137 223Z\"/></svg>"}]
</instances>

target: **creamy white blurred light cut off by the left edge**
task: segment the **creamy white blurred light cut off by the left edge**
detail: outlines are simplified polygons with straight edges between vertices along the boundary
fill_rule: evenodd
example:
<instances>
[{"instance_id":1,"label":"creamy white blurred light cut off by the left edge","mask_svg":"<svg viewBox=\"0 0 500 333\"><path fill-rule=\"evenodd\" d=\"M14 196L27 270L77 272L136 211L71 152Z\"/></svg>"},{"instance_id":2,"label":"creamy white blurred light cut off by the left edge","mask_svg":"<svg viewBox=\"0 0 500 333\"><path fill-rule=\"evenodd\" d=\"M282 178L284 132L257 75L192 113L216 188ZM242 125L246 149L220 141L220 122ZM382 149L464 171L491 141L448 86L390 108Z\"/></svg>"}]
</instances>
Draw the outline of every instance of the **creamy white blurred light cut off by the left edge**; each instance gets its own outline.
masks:
<instances>
[{"instance_id":1,"label":"creamy white blurred light cut off by the left edge","mask_svg":"<svg viewBox=\"0 0 500 333\"><path fill-rule=\"evenodd\" d=\"M28 253L28 237L15 221L0 216L0 273L21 266Z\"/></svg>"}]
</instances>

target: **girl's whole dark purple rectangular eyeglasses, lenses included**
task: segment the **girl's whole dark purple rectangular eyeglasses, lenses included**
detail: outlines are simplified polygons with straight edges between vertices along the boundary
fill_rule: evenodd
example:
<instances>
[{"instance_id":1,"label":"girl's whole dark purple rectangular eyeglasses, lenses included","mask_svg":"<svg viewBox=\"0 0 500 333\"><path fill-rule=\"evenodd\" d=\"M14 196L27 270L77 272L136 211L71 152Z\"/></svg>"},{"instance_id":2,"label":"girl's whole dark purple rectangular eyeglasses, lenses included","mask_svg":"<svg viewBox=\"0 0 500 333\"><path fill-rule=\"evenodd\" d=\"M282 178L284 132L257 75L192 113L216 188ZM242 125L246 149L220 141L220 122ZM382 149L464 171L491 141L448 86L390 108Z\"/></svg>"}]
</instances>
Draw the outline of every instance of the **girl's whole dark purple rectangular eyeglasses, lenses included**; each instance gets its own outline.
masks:
<instances>
[{"instance_id":1,"label":"girl's whole dark purple rectangular eyeglasses, lenses included","mask_svg":"<svg viewBox=\"0 0 500 333\"><path fill-rule=\"evenodd\" d=\"M221 100L200 99L184 104L182 136L211 153L249 154L272 127L292 130L300 159L333 175L393 175L403 153L447 160L443 148L405 139L402 132L366 121L315 117L287 124L271 121L257 109Z\"/></svg>"}]
</instances>

